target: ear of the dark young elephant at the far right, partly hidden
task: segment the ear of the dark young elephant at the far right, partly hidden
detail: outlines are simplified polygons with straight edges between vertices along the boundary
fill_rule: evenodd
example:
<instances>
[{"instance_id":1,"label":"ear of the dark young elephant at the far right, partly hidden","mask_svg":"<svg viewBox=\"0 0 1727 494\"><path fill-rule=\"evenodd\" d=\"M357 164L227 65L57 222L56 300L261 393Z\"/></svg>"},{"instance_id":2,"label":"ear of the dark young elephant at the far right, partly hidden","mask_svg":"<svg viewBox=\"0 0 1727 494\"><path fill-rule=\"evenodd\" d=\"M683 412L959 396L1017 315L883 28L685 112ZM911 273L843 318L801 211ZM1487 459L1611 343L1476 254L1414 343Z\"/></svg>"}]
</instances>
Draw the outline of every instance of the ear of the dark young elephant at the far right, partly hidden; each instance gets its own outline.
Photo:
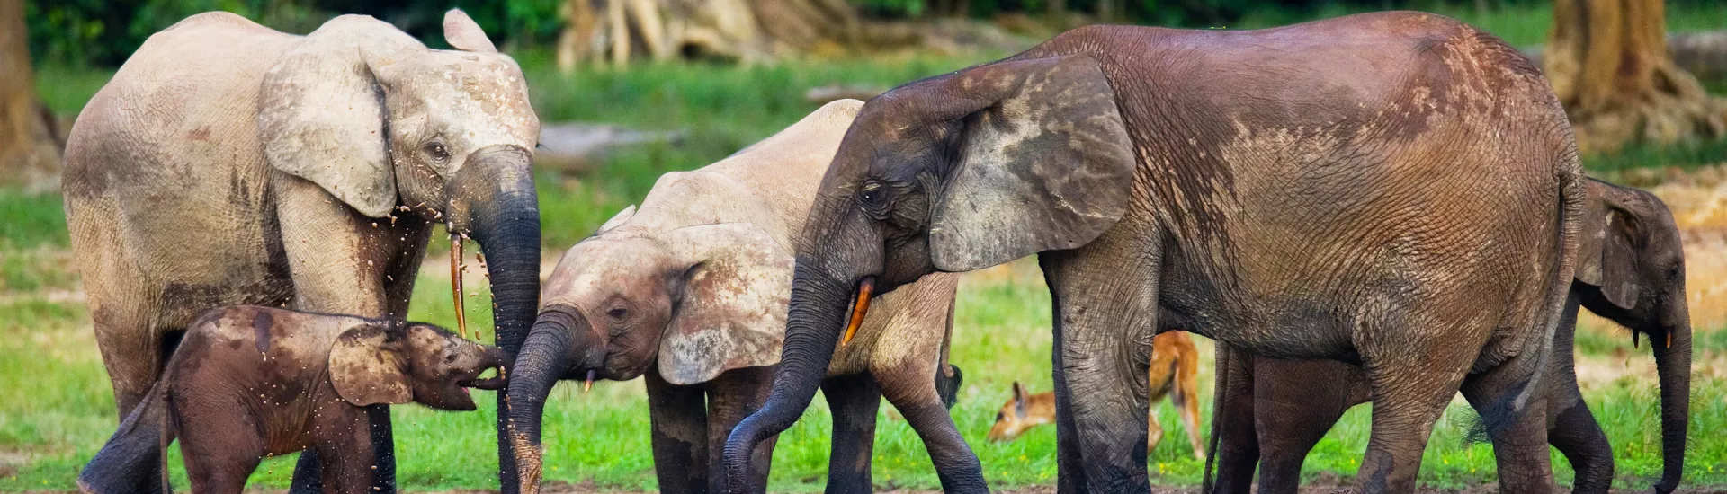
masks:
<instances>
[{"instance_id":1,"label":"ear of the dark young elephant at the far right, partly hidden","mask_svg":"<svg viewBox=\"0 0 1727 494\"><path fill-rule=\"evenodd\" d=\"M1608 207L1584 221L1584 231L1577 249L1577 280L1599 287L1601 295L1620 309L1635 307L1642 292L1637 245L1644 245L1637 219L1625 209Z\"/></svg>"}]
</instances>

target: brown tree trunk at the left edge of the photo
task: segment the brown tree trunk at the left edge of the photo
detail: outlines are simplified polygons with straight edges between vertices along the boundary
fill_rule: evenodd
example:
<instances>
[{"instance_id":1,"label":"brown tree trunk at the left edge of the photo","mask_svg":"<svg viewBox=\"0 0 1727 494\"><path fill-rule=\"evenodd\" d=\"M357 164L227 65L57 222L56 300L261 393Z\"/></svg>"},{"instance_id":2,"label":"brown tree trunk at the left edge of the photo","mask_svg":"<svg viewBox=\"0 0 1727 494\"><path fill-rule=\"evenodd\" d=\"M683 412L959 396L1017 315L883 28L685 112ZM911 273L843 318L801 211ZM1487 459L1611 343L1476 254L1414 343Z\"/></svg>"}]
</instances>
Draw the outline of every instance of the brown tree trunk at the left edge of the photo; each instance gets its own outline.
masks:
<instances>
[{"instance_id":1,"label":"brown tree trunk at the left edge of the photo","mask_svg":"<svg viewBox=\"0 0 1727 494\"><path fill-rule=\"evenodd\" d=\"M22 0L0 0L0 183L59 188L60 135L36 98Z\"/></svg>"}]
</instances>

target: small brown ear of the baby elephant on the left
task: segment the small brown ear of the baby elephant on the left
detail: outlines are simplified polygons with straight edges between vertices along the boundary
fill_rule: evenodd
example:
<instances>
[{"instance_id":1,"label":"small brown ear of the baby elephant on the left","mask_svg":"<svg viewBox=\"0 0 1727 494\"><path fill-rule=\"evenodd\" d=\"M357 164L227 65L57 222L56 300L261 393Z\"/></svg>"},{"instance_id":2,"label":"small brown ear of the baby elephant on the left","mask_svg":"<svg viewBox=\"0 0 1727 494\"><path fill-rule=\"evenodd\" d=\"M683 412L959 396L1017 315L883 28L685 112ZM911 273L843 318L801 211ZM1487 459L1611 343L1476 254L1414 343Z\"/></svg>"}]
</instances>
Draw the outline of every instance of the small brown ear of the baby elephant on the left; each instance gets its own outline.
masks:
<instances>
[{"instance_id":1,"label":"small brown ear of the baby elephant on the left","mask_svg":"<svg viewBox=\"0 0 1727 494\"><path fill-rule=\"evenodd\" d=\"M330 344L330 385L354 406L404 404L408 387L402 335L389 323L361 323L342 330Z\"/></svg>"}]
</instances>

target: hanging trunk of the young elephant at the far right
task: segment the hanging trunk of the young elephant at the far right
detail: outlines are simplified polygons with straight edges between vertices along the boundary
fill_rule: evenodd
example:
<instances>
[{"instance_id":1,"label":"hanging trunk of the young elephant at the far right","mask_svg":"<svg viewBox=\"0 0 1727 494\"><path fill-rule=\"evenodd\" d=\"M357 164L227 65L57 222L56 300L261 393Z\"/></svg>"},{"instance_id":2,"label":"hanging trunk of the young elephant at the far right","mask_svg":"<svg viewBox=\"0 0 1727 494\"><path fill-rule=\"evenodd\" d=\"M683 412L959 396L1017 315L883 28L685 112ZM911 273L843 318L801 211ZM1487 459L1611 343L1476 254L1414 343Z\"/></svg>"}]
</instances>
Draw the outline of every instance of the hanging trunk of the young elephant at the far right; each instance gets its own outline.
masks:
<instances>
[{"instance_id":1,"label":"hanging trunk of the young elephant at the far right","mask_svg":"<svg viewBox=\"0 0 1727 494\"><path fill-rule=\"evenodd\" d=\"M1686 430L1691 416L1691 311L1680 290L1661 314L1665 335L1651 335L1654 368L1661 382L1661 484L1656 492L1673 492L1686 472ZM1665 337L1665 340L1660 340Z\"/></svg>"}]
</instances>

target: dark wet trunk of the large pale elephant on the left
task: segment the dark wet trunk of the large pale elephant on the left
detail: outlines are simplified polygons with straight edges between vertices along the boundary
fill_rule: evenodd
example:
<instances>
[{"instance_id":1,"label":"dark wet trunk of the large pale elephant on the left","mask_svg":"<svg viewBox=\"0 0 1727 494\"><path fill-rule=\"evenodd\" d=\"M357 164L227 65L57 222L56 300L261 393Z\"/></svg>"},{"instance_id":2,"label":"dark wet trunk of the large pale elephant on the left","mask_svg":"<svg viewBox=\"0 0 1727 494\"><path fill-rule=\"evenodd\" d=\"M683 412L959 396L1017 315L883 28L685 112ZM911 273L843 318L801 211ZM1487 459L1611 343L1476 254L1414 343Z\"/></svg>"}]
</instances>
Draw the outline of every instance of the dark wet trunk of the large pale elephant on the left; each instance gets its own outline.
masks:
<instances>
[{"instance_id":1,"label":"dark wet trunk of the large pale elephant on the left","mask_svg":"<svg viewBox=\"0 0 1727 494\"><path fill-rule=\"evenodd\" d=\"M515 145L480 149L446 185L451 231L466 233L485 254L492 285L497 345L511 358L522 349L539 309L539 195L534 154ZM504 409L499 394L497 408ZM497 463L504 494L518 492L504 415L497 415Z\"/></svg>"}]
</instances>

